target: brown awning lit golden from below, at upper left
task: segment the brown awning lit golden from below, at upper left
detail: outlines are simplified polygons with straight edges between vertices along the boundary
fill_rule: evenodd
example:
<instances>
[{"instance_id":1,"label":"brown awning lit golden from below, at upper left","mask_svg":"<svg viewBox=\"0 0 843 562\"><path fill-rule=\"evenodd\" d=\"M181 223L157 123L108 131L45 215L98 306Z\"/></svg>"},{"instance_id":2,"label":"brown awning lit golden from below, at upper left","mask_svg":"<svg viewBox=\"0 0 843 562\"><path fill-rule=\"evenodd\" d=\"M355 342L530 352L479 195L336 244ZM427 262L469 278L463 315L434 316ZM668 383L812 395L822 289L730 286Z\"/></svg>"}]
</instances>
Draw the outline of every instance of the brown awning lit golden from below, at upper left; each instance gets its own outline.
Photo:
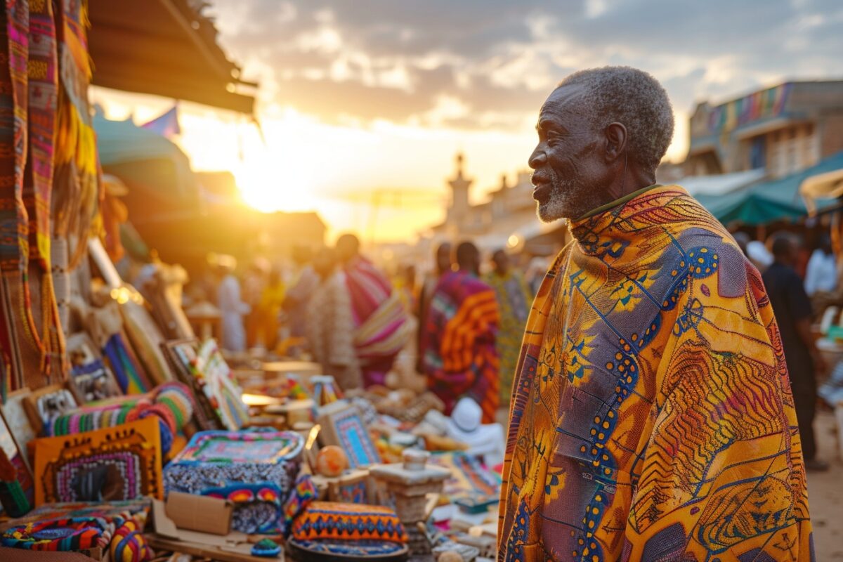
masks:
<instances>
[{"instance_id":1,"label":"brown awning lit golden from below, at upper left","mask_svg":"<svg viewBox=\"0 0 843 562\"><path fill-rule=\"evenodd\" d=\"M197 8L193 6L196 5ZM240 69L217 29L190 0L89 0L89 52L97 86L252 114Z\"/></svg>"}]
</instances>

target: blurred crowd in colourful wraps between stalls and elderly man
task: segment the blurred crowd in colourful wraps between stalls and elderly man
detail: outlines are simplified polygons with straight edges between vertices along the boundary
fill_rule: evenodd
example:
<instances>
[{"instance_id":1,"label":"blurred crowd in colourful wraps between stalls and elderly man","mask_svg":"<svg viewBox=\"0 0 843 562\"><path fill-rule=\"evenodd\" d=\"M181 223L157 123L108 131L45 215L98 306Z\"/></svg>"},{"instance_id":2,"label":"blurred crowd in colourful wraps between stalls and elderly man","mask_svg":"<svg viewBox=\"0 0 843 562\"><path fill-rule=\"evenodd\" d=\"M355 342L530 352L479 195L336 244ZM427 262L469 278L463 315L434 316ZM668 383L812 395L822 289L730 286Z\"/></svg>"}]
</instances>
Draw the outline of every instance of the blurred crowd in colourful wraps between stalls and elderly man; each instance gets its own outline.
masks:
<instances>
[{"instance_id":1,"label":"blurred crowd in colourful wraps between stalls and elderly man","mask_svg":"<svg viewBox=\"0 0 843 562\"><path fill-rule=\"evenodd\" d=\"M502 249L481 255L470 242L432 257L427 270L388 274L346 234L330 247L295 248L285 267L213 256L187 297L216 305L227 351L311 359L345 390L431 390L448 414L470 397L491 422L508 403L546 264Z\"/></svg>"}]
</instances>

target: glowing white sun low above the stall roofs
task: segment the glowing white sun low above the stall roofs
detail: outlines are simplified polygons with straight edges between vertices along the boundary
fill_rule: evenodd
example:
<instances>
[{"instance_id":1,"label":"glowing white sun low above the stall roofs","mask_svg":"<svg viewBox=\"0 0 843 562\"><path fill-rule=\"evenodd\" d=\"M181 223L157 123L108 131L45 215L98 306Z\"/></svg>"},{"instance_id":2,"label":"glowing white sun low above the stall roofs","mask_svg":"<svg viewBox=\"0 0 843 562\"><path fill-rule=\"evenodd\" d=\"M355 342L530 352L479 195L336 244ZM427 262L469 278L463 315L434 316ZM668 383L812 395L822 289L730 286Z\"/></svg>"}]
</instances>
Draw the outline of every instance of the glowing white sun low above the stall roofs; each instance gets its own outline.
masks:
<instances>
[{"instance_id":1,"label":"glowing white sun low above the stall roofs","mask_svg":"<svg viewBox=\"0 0 843 562\"><path fill-rule=\"evenodd\" d=\"M244 163L234 172L243 201L262 212L315 211L318 206L312 186L301 174L277 163Z\"/></svg>"}]
</instances>

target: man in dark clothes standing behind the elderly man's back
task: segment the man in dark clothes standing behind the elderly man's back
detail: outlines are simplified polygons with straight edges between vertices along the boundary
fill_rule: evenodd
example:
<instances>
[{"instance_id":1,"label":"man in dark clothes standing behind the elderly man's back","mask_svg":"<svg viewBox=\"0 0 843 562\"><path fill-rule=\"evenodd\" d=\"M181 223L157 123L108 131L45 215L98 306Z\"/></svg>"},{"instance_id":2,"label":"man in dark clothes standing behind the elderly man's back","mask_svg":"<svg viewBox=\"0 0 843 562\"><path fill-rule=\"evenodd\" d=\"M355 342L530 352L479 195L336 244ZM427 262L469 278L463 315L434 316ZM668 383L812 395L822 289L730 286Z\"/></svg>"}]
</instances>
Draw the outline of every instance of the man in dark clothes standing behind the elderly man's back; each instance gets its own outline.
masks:
<instances>
[{"instance_id":1,"label":"man in dark clothes standing behind the elderly man's back","mask_svg":"<svg viewBox=\"0 0 843 562\"><path fill-rule=\"evenodd\" d=\"M816 458L817 444L813 437L813 416L817 405L816 372L825 368L811 336L811 301L802 279L793 266L797 260L797 244L792 235L777 234L773 238L774 262L764 273L767 295L776 314L790 374L793 404L796 409L805 468L827 470L829 465Z\"/></svg>"}]
</instances>

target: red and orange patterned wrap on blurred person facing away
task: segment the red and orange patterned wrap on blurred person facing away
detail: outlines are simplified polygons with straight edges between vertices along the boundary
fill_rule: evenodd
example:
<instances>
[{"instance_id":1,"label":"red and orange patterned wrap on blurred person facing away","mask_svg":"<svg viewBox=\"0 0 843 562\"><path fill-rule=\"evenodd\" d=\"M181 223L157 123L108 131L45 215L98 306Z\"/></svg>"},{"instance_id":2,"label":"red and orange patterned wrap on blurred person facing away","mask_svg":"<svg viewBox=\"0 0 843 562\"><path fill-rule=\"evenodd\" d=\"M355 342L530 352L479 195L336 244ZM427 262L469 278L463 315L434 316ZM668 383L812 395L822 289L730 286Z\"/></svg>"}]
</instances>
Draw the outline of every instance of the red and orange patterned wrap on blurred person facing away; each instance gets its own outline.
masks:
<instances>
[{"instance_id":1,"label":"red and orange patterned wrap on blurred person facing away","mask_svg":"<svg viewBox=\"0 0 843 562\"><path fill-rule=\"evenodd\" d=\"M495 347L500 316L495 292L466 271L443 275L427 312L421 353L427 387L445 403L470 396L493 423L500 404L500 372Z\"/></svg>"}]
</instances>

